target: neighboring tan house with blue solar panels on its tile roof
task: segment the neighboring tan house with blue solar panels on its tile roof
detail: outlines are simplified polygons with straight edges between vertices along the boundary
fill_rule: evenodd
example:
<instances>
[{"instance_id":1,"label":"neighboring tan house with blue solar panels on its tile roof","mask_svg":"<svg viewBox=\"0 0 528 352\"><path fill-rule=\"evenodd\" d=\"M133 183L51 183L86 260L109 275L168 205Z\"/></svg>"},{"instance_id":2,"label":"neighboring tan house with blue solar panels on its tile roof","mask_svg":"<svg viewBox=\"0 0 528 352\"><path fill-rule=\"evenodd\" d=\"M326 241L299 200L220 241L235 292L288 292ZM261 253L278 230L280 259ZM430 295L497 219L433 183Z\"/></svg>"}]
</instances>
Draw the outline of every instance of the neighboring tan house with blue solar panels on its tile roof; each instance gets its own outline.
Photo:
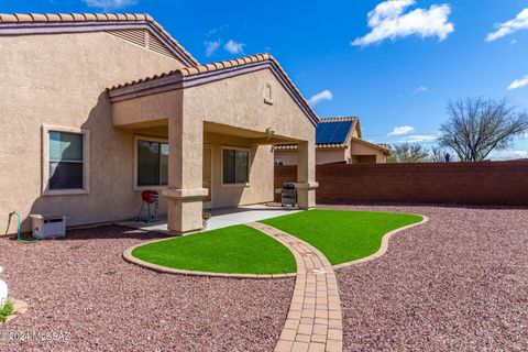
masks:
<instances>
[{"instance_id":1,"label":"neighboring tan house with blue solar panels on its tile roof","mask_svg":"<svg viewBox=\"0 0 528 352\"><path fill-rule=\"evenodd\" d=\"M385 163L389 148L362 139L360 119L320 119L316 130L316 163L375 164ZM297 145L275 146L275 165L297 165Z\"/></svg>"}]
</instances>

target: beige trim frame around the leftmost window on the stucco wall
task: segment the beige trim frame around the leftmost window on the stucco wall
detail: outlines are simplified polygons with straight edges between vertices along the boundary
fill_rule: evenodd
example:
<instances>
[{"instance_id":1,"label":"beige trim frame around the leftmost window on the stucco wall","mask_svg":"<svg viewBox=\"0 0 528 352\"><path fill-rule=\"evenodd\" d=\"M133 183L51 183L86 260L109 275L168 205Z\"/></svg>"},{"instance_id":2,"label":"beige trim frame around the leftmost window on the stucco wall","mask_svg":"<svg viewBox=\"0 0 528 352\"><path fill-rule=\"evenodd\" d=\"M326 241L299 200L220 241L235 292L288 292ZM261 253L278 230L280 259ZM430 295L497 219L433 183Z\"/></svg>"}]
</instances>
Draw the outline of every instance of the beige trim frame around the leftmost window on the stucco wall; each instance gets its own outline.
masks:
<instances>
[{"instance_id":1,"label":"beige trim frame around the leftmost window on the stucco wall","mask_svg":"<svg viewBox=\"0 0 528 352\"><path fill-rule=\"evenodd\" d=\"M76 133L82 135L82 188L50 189L50 131ZM42 195L70 196L90 193L90 131L87 129L67 128L63 125L42 125Z\"/></svg>"}]
</instances>

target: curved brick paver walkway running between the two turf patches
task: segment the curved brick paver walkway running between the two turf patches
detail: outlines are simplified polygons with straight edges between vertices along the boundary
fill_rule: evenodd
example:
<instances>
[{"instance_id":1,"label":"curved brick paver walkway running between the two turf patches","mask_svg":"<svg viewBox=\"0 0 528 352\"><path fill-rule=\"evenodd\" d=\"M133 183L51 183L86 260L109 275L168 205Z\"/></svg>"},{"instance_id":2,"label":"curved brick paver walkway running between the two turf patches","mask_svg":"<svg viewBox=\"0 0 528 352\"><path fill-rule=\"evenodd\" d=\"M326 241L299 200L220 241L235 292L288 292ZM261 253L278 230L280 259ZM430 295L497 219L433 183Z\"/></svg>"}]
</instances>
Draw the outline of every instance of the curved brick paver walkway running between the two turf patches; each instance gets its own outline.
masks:
<instances>
[{"instance_id":1,"label":"curved brick paver walkway running between the two turf patches","mask_svg":"<svg viewBox=\"0 0 528 352\"><path fill-rule=\"evenodd\" d=\"M294 296L275 352L341 352L341 302L330 262L316 248L286 232L258 222L248 226L283 243L297 263Z\"/></svg>"}]
</instances>

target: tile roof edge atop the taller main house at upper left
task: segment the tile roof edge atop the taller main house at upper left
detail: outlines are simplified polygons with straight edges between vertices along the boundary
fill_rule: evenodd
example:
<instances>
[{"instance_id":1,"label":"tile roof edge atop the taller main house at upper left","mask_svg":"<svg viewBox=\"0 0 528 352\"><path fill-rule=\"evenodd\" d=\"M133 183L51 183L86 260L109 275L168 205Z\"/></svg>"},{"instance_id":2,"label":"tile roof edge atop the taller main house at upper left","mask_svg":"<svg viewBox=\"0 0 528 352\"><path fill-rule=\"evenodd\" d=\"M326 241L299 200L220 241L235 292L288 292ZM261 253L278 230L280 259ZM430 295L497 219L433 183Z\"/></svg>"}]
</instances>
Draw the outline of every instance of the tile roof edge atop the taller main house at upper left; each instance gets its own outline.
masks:
<instances>
[{"instance_id":1,"label":"tile roof edge atop the taller main house at upper left","mask_svg":"<svg viewBox=\"0 0 528 352\"><path fill-rule=\"evenodd\" d=\"M67 23L67 22L147 22L160 31L172 44L174 44L194 65L198 65L198 61L193 57L179 43L163 29L163 26L154 21L146 13L0 13L0 25L3 23L28 23L28 22L50 22L50 23Z\"/></svg>"}]
</instances>

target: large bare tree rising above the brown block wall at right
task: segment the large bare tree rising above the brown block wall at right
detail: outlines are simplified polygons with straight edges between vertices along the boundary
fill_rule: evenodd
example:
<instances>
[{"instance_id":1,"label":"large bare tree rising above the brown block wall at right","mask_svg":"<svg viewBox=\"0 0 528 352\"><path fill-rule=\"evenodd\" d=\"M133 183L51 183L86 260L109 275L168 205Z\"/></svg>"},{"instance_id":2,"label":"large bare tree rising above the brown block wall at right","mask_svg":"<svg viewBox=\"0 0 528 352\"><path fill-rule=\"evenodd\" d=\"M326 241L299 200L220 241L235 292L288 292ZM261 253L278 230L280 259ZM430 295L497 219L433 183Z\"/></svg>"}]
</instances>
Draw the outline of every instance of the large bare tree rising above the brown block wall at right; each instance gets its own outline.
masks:
<instances>
[{"instance_id":1,"label":"large bare tree rising above the brown block wall at right","mask_svg":"<svg viewBox=\"0 0 528 352\"><path fill-rule=\"evenodd\" d=\"M485 160L528 131L528 114L506 99L468 98L448 105L449 120L440 127L440 145L454 150L463 162Z\"/></svg>"}]
</instances>

